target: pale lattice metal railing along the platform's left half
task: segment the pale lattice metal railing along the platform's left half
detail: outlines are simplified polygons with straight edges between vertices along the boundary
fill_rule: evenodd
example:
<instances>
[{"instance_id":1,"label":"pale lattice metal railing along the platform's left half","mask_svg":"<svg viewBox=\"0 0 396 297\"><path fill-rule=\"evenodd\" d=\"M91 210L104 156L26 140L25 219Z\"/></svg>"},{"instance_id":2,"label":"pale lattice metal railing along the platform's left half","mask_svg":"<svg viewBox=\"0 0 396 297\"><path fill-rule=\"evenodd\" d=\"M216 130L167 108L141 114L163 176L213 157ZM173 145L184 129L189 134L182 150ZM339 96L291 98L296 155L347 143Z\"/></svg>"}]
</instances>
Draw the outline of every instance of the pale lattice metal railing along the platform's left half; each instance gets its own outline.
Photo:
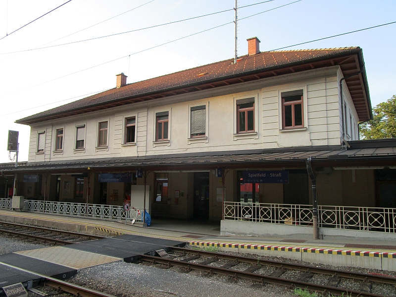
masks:
<instances>
[{"instance_id":1,"label":"pale lattice metal railing along the platform's left half","mask_svg":"<svg viewBox=\"0 0 396 297\"><path fill-rule=\"evenodd\" d=\"M11 209L10 198L0 198L0 209ZM143 210L131 208L125 211L123 206L87 204L74 202L57 202L42 200L25 200L24 210L31 212L53 213L81 216L114 221L142 220Z\"/></svg>"}]
</instances>

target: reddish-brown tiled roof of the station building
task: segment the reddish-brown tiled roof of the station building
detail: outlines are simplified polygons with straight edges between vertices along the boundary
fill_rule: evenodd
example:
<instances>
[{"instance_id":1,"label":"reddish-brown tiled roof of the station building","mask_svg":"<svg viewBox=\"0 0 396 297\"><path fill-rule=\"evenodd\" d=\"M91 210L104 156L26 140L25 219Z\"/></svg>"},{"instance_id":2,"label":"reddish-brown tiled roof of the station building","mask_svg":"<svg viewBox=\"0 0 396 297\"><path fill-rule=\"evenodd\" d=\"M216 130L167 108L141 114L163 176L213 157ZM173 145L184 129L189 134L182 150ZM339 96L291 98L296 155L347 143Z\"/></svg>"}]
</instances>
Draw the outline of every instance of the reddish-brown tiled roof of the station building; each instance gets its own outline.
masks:
<instances>
[{"instance_id":1,"label":"reddish-brown tiled roof of the station building","mask_svg":"<svg viewBox=\"0 0 396 297\"><path fill-rule=\"evenodd\" d=\"M189 86L204 85L211 82L216 83L233 77L242 77L268 70L309 64L318 60L331 59L340 55L357 54L359 52L361 53L361 49L358 47L260 52L255 55L243 56L238 59L236 64L233 63L233 59L228 59L128 84L121 88L110 89L84 99L25 117L17 120L16 123L30 124L48 120L49 116L61 115L72 110L86 109L91 106L112 101L148 96L149 94L158 94L170 90L187 88ZM198 91L198 89L195 91ZM67 115L65 114L64 116Z\"/></svg>"}]
</instances>

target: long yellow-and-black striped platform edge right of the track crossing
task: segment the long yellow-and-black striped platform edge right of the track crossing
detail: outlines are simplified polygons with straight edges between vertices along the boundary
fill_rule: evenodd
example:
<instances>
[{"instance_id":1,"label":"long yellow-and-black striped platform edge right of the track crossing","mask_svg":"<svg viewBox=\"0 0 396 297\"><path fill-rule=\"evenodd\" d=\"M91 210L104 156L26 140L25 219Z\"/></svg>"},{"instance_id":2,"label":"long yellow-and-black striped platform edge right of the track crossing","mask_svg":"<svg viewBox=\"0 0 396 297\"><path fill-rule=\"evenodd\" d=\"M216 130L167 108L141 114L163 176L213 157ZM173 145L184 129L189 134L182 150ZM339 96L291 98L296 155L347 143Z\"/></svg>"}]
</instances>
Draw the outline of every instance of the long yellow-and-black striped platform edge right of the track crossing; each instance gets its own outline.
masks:
<instances>
[{"instance_id":1,"label":"long yellow-and-black striped platform edge right of the track crossing","mask_svg":"<svg viewBox=\"0 0 396 297\"><path fill-rule=\"evenodd\" d=\"M379 252L379 251L342 250L342 249L327 249L327 248L313 248L313 247L279 247L279 246L262 246L262 245L247 245L247 244L223 244L223 243L209 243L209 242L196 242L196 241L190 241L188 242L188 244L191 246L200 246L200 247L247 248L247 249L295 251L295 252L347 255L347 256L396 258L396 253Z\"/></svg>"}]
</instances>

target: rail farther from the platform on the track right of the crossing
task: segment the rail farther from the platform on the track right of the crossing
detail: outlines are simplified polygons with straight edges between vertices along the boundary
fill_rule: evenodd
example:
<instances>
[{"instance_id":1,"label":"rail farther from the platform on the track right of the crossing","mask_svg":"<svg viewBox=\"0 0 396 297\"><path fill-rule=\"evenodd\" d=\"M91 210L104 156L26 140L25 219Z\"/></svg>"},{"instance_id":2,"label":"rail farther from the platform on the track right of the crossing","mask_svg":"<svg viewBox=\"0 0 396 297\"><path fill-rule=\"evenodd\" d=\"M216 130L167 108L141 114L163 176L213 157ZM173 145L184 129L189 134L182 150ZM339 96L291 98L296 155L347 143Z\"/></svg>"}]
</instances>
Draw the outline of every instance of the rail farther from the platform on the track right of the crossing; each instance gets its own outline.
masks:
<instances>
[{"instance_id":1,"label":"rail farther from the platform on the track right of the crossing","mask_svg":"<svg viewBox=\"0 0 396 297\"><path fill-rule=\"evenodd\" d=\"M334 294L334 295L348 296L348 297L383 297L383 295L377 295L372 293L365 293L365 292L359 292L359 291L347 290L344 288L337 288L337 287L330 287L323 285L315 285L312 283L288 280L280 277L272 277L263 274L244 272L244 271L221 268L216 266L201 265L198 263L182 262L178 260L154 257L149 255L142 255L140 259L143 261L152 262L153 264L164 264L169 267L177 266L177 267L187 268L189 270L203 271L209 274L213 274L213 273L221 274L233 278L242 278L242 279L253 280L260 283L281 285L292 288L293 287L301 288L301 289L306 289L309 291L320 292L325 294Z\"/></svg>"}]
</instances>

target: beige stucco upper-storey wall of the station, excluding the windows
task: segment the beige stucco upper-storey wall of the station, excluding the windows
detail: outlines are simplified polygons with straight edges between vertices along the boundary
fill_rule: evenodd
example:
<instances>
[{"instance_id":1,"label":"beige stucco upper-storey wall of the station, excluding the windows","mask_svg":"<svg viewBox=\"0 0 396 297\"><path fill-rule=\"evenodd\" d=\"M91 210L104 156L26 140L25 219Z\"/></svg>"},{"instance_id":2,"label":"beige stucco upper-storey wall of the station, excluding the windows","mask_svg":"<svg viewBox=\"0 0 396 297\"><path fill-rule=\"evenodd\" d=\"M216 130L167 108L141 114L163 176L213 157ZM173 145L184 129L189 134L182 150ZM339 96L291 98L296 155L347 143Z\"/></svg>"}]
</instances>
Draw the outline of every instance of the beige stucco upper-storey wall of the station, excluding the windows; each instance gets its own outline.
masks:
<instances>
[{"instance_id":1,"label":"beige stucco upper-storey wall of the station, excluding the windows","mask_svg":"<svg viewBox=\"0 0 396 297\"><path fill-rule=\"evenodd\" d=\"M341 144L338 66L261 79L235 86L177 95L166 99L114 107L31 125L29 162L129 157L200 151L331 146ZM281 93L303 90L303 127L282 129ZM358 121L347 88L347 140L357 139ZM254 132L238 134L236 100L254 98ZM206 137L189 137L190 108L206 106ZM169 136L155 141L155 114L169 112ZM125 144L125 119L136 117L136 141ZM98 124L108 122L107 146L98 147ZM350 123L352 123L350 125ZM85 125L84 148L76 149L76 129ZM55 133L63 129L63 146L55 150ZM38 133L45 133L38 152Z\"/></svg>"}]
</instances>

